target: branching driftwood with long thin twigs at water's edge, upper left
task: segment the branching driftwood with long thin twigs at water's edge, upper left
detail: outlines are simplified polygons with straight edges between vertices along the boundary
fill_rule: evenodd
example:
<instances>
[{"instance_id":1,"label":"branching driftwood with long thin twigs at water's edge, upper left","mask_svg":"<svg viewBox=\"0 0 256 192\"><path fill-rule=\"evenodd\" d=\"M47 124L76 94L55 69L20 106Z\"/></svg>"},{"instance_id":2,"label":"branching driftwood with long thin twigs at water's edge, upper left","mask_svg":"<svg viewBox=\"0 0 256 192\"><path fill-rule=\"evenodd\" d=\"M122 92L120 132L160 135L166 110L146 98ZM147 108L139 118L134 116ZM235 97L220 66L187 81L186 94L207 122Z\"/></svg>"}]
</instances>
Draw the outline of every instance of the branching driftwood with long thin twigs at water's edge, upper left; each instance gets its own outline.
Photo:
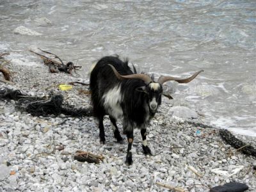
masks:
<instances>
[{"instance_id":1,"label":"branching driftwood with long thin twigs at water's edge, upper left","mask_svg":"<svg viewBox=\"0 0 256 192\"><path fill-rule=\"evenodd\" d=\"M39 49L39 48L38 48ZM53 54L48 51L44 51L42 49L39 49L42 52L45 52L47 54L51 54L54 56L54 58L57 58L59 61L53 60L52 58L49 58L47 56L44 56L38 52L29 50L30 52L33 52L40 56L42 60L44 61L44 64L49 67L50 72L55 73L55 72L65 72L68 74L71 74L72 70L76 72L77 68L81 68L81 66L75 66L73 62L69 61L66 65L63 63L60 57L58 57L56 54Z\"/></svg>"}]
</instances>

